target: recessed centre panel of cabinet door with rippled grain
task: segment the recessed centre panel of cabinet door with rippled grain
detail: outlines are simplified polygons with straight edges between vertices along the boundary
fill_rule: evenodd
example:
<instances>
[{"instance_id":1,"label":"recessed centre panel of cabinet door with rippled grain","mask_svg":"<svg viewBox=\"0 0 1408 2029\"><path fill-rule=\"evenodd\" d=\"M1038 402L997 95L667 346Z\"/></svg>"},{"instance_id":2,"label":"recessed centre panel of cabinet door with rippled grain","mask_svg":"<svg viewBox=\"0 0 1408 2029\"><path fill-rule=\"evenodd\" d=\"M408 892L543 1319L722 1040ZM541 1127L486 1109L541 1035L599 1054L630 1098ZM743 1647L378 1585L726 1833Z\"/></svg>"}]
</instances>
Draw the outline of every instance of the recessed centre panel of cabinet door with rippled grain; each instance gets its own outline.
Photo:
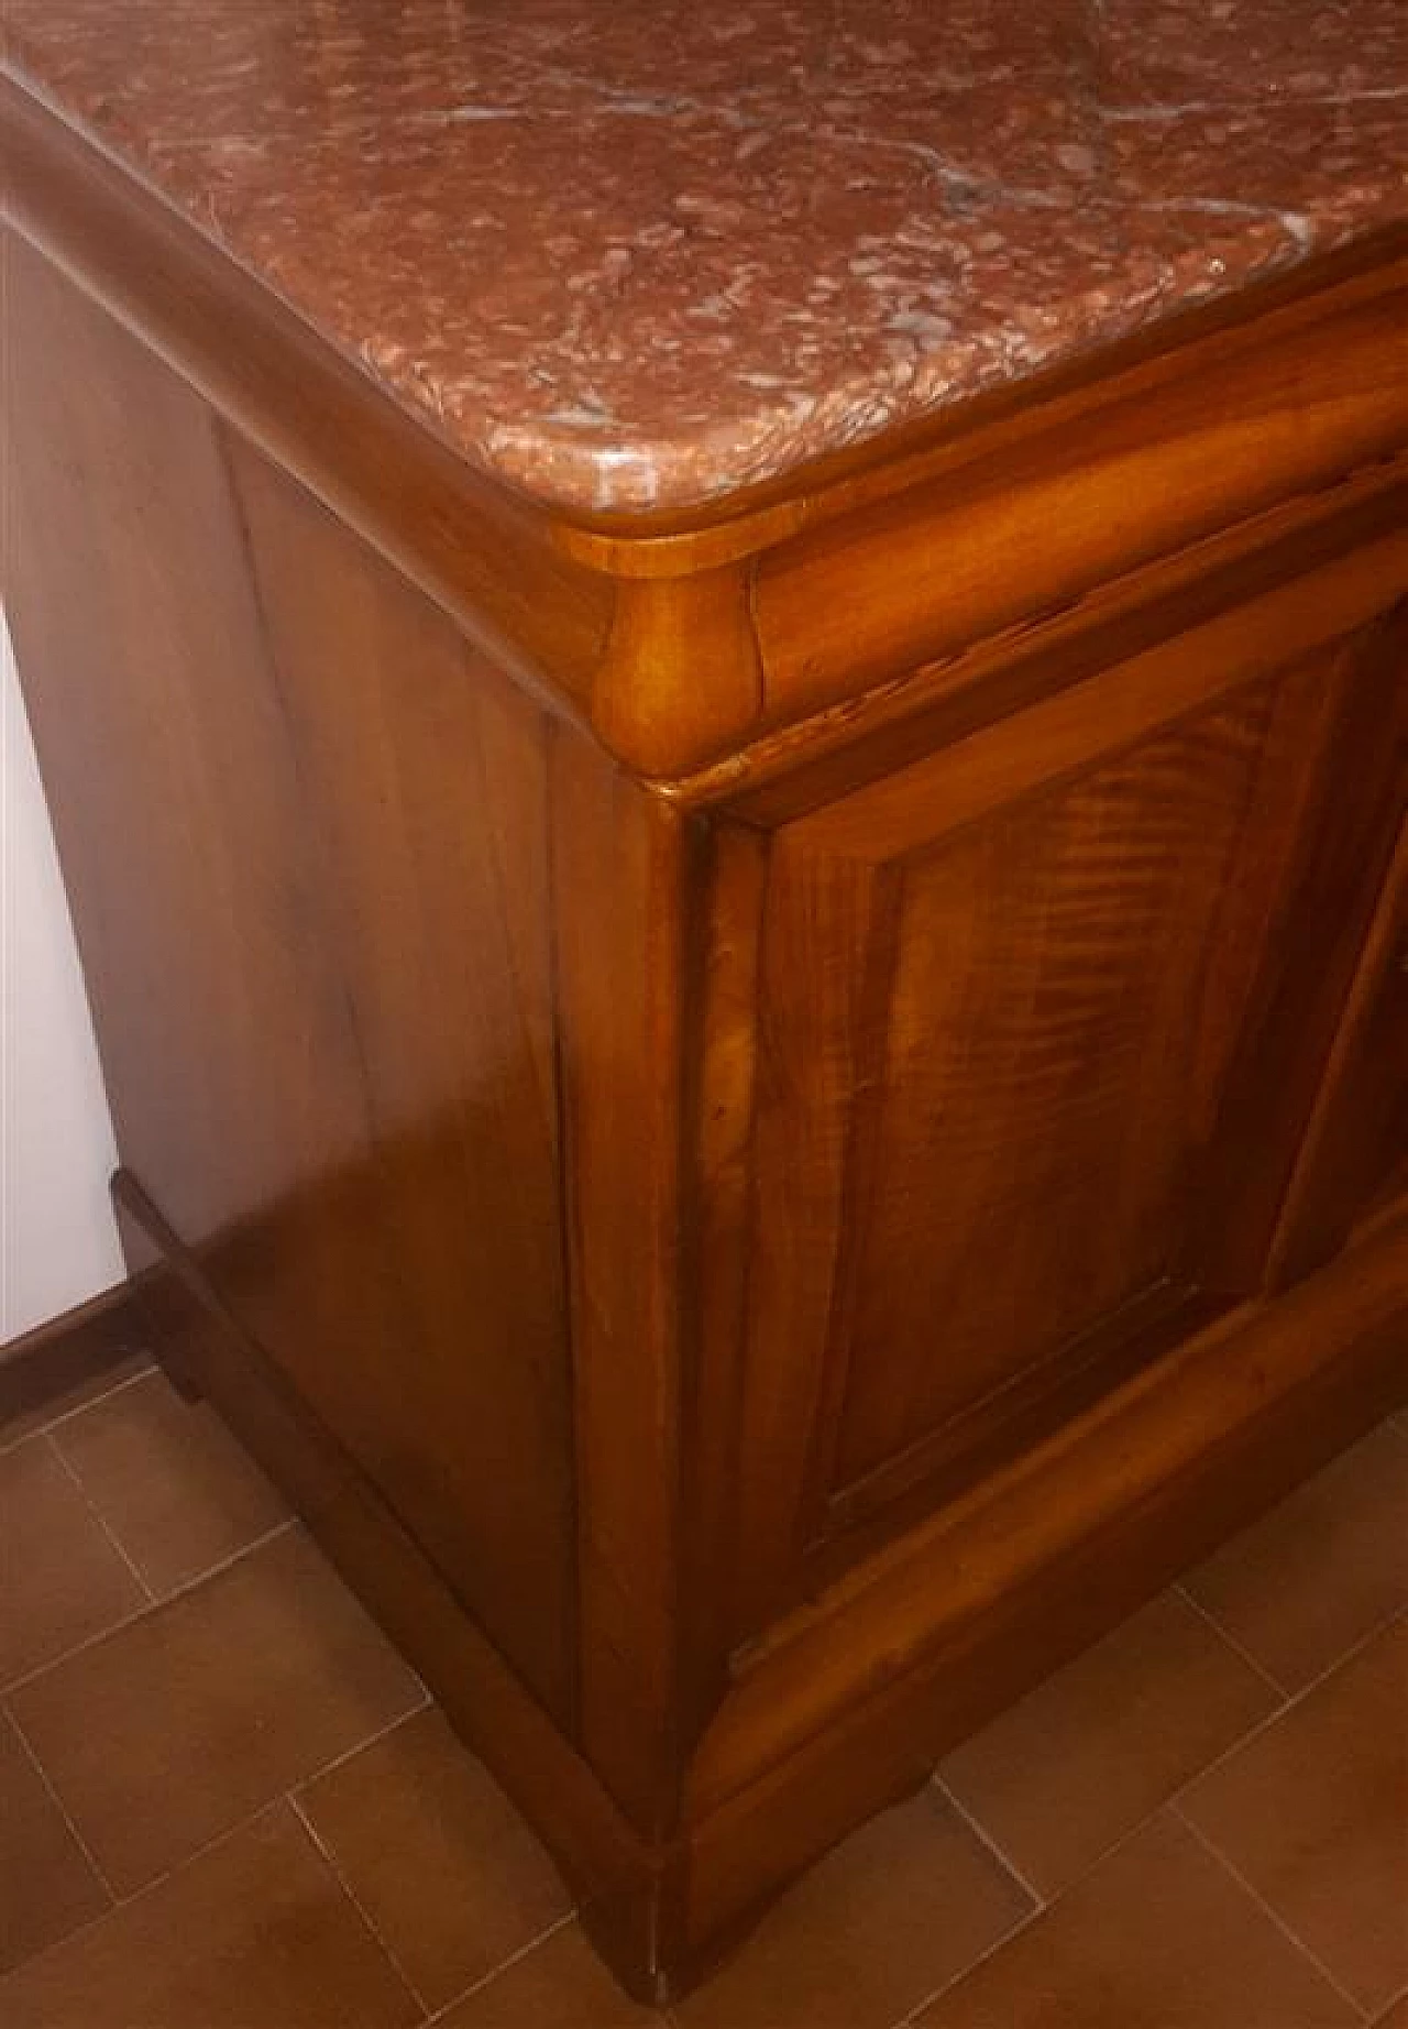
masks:
<instances>
[{"instance_id":1,"label":"recessed centre panel of cabinet door with rippled grain","mask_svg":"<svg viewBox=\"0 0 1408 2029\"><path fill-rule=\"evenodd\" d=\"M1223 901L1290 844L1248 850L1278 702L1256 686L891 874L838 1485L1185 1274L1225 994L1250 986Z\"/></svg>"}]
</instances>

